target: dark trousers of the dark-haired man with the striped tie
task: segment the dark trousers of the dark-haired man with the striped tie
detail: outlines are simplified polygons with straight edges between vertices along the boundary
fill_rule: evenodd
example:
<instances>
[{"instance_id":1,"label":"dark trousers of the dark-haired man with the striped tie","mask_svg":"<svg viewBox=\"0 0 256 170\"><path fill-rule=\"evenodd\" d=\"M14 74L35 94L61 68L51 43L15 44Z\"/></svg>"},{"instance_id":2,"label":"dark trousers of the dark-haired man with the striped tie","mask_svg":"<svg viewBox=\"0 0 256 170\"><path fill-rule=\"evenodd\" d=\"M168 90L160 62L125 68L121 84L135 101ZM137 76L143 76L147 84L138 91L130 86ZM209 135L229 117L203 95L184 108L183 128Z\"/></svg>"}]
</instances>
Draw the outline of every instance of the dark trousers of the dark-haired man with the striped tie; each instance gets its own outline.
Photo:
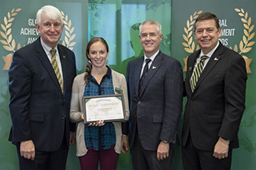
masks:
<instances>
[{"instance_id":1,"label":"dark trousers of the dark-haired man with the striped tie","mask_svg":"<svg viewBox=\"0 0 256 170\"><path fill-rule=\"evenodd\" d=\"M203 141L202 141L203 142ZM232 159L232 149L228 152L228 157L218 160L213 156L214 150L202 151L194 147L191 136L186 142L186 146L182 146L183 168L186 169L204 169L204 170L221 170L230 169Z\"/></svg>"}]
</instances>

